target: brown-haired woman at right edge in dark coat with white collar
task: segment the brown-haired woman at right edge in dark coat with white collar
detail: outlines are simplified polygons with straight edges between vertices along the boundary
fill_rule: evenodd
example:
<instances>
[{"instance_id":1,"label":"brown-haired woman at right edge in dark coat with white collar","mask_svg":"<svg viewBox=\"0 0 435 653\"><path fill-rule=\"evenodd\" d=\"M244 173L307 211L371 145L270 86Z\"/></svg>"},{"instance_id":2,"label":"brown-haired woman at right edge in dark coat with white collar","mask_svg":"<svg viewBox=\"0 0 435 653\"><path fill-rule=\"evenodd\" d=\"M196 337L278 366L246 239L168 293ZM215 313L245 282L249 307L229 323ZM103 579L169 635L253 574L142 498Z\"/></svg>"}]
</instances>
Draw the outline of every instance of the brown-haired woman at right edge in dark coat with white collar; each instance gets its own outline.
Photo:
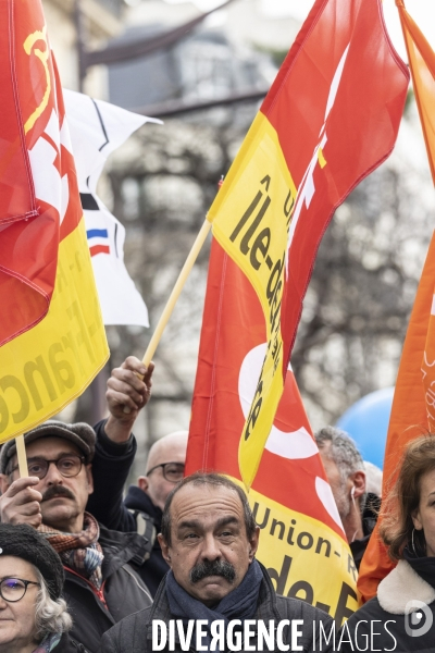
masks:
<instances>
[{"instance_id":1,"label":"brown-haired woman at right edge in dark coat with white collar","mask_svg":"<svg viewBox=\"0 0 435 653\"><path fill-rule=\"evenodd\" d=\"M364 642L371 642L372 651L433 651L435 435L422 435L408 445L381 515L380 535L397 566L380 582L377 595L344 626L347 643L340 650L361 651Z\"/></svg>"}]
</instances>

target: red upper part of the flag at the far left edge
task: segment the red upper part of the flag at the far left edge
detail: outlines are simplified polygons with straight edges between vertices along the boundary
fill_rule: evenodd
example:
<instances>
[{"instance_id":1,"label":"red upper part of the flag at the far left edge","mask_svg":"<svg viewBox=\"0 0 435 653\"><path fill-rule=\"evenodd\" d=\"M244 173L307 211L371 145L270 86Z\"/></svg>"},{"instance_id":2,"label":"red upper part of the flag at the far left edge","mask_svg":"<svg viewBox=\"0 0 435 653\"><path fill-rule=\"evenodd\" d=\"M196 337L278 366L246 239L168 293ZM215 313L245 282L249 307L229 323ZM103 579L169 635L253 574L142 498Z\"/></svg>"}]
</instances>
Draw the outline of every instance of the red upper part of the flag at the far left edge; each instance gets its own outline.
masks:
<instances>
[{"instance_id":1,"label":"red upper part of the flag at the far left edge","mask_svg":"<svg viewBox=\"0 0 435 653\"><path fill-rule=\"evenodd\" d=\"M60 143L50 121L59 84L39 2L0 4L0 346L38 323L54 287L60 224L65 207L57 196ZM30 83L29 83L30 81ZM32 173L30 159L44 165ZM65 167L66 157L62 158ZM72 182L74 184L73 175Z\"/></svg>"}]
</instances>

